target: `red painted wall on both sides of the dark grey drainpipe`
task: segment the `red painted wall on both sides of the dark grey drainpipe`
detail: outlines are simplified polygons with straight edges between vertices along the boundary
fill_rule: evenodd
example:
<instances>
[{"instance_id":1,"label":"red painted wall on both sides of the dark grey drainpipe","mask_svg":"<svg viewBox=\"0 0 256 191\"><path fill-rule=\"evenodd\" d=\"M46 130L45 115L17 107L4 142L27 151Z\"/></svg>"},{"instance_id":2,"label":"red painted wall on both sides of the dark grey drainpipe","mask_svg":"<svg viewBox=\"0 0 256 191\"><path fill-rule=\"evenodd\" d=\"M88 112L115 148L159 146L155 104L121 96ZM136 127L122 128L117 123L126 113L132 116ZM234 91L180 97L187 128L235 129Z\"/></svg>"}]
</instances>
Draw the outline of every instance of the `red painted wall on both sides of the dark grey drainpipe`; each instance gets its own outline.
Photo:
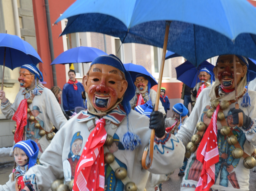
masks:
<instances>
[{"instance_id":1,"label":"red painted wall on both sides of the dark grey drainpipe","mask_svg":"<svg viewBox=\"0 0 256 191\"><path fill-rule=\"evenodd\" d=\"M60 14L62 14L75 0L49 0L50 19L53 24ZM36 28L36 41L37 51L44 63L39 63L39 69L43 73L44 81L47 82L45 85L47 88L53 86L53 77L51 69L51 55L49 48L48 30L46 22L46 11L44 0L33 0L33 11ZM62 37L59 37L61 33L61 24L51 26L52 41L54 46L54 58L63 52ZM64 65L55 65L57 85L62 89L66 83L66 74Z\"/></svg>"}]
</instances>

